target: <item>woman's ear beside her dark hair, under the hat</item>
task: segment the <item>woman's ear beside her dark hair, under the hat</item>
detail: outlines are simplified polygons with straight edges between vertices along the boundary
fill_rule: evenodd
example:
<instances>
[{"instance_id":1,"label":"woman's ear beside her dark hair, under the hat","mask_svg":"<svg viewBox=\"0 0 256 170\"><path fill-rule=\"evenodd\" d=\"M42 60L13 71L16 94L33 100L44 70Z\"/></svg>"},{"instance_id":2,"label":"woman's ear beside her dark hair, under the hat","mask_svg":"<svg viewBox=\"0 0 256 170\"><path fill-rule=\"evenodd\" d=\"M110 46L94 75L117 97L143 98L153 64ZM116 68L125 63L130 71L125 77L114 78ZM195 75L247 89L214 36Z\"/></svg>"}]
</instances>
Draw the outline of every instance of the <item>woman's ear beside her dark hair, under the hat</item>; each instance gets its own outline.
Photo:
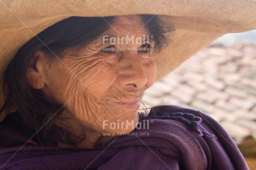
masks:
<instances>
[{"instance_id":1,"label":"woman's ear beside her dark hair, under the hat","mask_svg":"<svg viewBox=\"0 0 256 170\"><path fill-rule=\"evenodd\" d=\"M42 89L45 86L45 78L43 76L43 58L45 54L36 51L28 64L26 76L28 84L35 89Z\"/></svg>"}]
</instances>

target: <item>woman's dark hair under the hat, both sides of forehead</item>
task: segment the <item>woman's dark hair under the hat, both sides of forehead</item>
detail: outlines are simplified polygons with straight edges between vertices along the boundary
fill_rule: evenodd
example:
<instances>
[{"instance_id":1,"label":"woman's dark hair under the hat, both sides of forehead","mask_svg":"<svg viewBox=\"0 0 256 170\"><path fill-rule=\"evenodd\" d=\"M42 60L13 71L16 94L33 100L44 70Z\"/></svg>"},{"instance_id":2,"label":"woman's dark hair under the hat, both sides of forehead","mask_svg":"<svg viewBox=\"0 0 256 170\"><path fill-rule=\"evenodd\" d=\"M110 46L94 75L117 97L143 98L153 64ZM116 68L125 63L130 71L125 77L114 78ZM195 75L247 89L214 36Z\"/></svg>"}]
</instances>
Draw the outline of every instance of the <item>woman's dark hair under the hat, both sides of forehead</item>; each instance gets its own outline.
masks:
<instances>
[{"instance_id":1,"label":"woman's dark hair under the hat, both sides of forehead","mask_svg":"<svg viewBox=\"0 0 256 170\"><path fill-rule=\"evenodd\" d=\"M157 16L141 15L145 27L154 35L155 51L160 52L168 43L165 27ZM41 50L47 56L61 57L67 49L85 46L110 28L115 17L70 17L46 28L21 47L8 64L3 76L4 105L0 114L17 109L26 124L43 137L55 142L75 145L86 138L85 133L75 136L68 128L57 126L63 106L47 101L38 89L27 83L26 71L33 54Z\"/></svg>"}]
</instances>

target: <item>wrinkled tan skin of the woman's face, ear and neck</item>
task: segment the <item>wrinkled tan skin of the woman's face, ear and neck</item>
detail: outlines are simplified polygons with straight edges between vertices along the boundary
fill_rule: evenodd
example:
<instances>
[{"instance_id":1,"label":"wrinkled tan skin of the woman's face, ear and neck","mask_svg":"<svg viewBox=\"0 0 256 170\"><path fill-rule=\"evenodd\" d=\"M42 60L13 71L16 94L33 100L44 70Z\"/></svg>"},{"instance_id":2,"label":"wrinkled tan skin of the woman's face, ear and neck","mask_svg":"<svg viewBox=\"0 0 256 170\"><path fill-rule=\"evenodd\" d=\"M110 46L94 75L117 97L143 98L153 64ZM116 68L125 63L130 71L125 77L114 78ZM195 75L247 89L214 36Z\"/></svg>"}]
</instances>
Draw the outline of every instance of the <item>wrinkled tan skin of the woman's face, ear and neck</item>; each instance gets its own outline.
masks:
<instances>
[{"instance_id":1,"label":"wrinkled tan skin of the woman's face, ear and neck","mask_svg":"<svg viewBox=\"0 0 256 170\"><path fill-rule=\"evenodd\" d=\"M147 34L141 18L120 16L102 36L134 36L136 39ZM115 137L104 136L103 132L116 135L131 132L138 122L138 108L115 102L140 101L156 78L156 64L151 56L154 42L149 42L150 51L144 51L139 49L145 46L144 42L102 44L102 36L50 62L44 53L37 51L27 70L28 82L33 88L41 89L48 99L65 104L63 114L71 113L85 126L86 139L78 147L93 148L96 142L106 143ZM102 50L108 46L115 50ZM127 121L134 124L127 125ZM111 122L116 123L115 128L110 127ZM122 122L124 126L118 128L117 124ZM63 124L68 123L70 131L81 133L76 124ZM58 146L66 145L58 143Z\"/></svg>"}]
</instances>

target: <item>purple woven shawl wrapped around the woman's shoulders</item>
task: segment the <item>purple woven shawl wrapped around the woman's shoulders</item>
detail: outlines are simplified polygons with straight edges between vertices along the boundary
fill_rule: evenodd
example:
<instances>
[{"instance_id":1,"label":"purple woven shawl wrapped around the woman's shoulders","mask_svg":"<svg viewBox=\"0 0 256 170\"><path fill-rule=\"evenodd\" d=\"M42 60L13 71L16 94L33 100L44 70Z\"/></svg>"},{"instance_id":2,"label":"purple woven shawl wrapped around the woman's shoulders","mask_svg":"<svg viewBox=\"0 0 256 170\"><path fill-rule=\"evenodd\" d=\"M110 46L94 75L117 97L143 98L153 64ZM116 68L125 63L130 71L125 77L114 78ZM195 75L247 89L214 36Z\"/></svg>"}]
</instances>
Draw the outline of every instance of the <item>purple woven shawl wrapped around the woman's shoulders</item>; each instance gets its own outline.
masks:
<instances>
[{"instance_id":1,"label":"purple woven shawl wrapped around the woman's shoulders","mask_svg":"<svg viewBox=\"0 0 256 170\"><path fill-rule=\"evenodd\" d=\"M75 149L35 141L21 147L17 140L26 142L28 134L14 133L2 121L0 169L249 169L229 134L204 113L157 106L147 117L140 113L140 122L149 128L136 128L102 148ZM3 147L11 141L2 138L7 136L19 146Z\"/></svg>"}]
</instances>

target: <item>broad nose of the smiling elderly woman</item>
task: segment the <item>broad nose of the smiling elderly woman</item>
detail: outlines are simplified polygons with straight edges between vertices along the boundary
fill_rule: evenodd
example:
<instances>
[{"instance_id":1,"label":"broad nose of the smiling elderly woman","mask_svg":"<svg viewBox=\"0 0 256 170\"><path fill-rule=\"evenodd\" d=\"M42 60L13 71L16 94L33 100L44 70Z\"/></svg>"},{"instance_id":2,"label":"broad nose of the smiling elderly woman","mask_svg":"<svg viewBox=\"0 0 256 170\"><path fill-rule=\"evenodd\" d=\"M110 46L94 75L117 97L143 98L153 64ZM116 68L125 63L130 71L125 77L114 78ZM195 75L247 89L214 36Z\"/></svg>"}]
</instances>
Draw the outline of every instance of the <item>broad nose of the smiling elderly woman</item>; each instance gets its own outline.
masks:
<instances>
[{"instance_id":1,"label":"broad nose of the smiling elderly woman","mask_svg":"<svg viewBox=\"0 0 256 170\"><path fill-rule=\"evenodd\" d=\"M125 89L141 89L147 83L146 69L144 68L144 58L138 54L126 55L120 63L117 83Z\"/></svg>"}]
</instances>

